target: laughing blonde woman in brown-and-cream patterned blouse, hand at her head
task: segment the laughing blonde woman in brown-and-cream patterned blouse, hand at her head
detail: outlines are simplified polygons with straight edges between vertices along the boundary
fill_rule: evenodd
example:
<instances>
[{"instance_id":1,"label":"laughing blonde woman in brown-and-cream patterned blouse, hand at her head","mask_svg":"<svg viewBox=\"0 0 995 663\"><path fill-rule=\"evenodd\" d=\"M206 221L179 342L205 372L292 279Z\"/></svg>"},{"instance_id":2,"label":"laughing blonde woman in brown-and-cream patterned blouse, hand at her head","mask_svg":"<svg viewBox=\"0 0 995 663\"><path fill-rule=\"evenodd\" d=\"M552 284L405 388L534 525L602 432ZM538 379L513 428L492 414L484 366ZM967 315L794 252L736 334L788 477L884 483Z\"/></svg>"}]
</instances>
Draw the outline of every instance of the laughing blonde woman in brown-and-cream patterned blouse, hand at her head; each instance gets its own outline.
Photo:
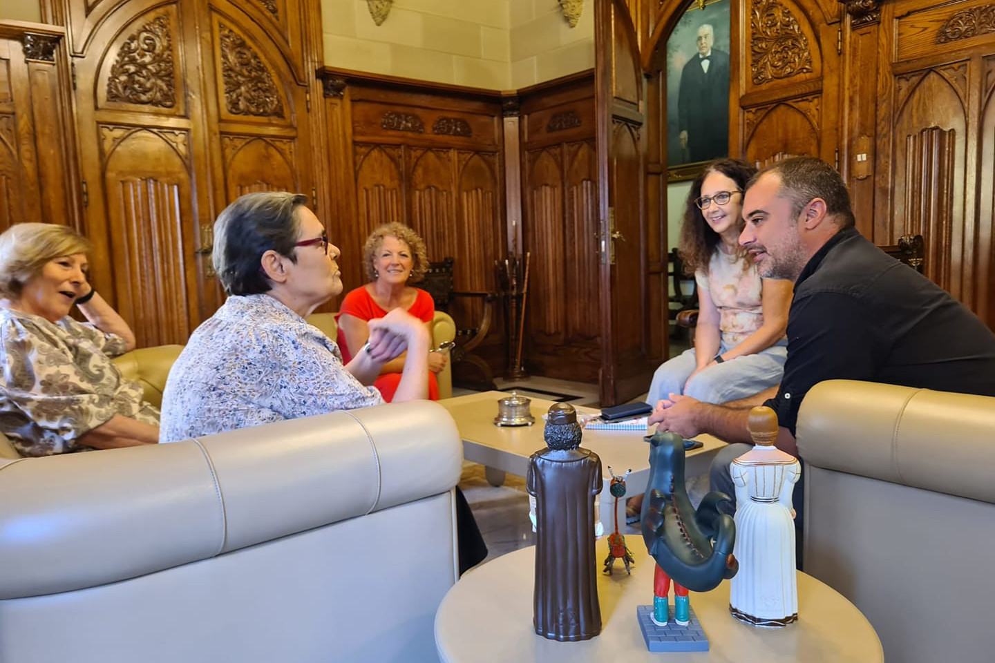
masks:
<instances>
[{"instance_id":1,"label":"laughing blonde woman in brown-and-cream patterned blouse, hand at her head","mask_svg":"<svg viewBox=\"0 0 995 663\"><path fill-rule=\"evenodd\" d=\"M158 411L110 361L134 334L88 282L91 249L55 224L0 235L0 430L23 456L158 441Z\"/></svg>"}]
</instances>

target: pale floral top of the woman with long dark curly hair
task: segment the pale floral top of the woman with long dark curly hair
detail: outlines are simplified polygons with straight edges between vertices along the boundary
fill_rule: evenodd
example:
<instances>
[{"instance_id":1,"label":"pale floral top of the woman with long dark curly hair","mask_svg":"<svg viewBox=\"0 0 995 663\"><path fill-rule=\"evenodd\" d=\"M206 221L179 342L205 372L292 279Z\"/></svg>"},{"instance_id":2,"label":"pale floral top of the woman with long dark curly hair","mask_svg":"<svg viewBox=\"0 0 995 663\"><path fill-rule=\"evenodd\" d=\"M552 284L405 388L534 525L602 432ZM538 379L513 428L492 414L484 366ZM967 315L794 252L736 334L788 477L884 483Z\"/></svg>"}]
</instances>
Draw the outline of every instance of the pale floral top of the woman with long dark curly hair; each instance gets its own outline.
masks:
<instances>
[{"instance_id":1,"label":"pale floral top of the woman with long dark curly hair","mask_svg":"<svg viewBox=\"0 0 995 663\"><path fill-rule=\"evenodd\" d=\"M695 280L699 291L707 291L718 309L723 347L734 348L763 324L763 286L752 262L715 249L708 261L708 273L698 269Z\"/></svg>"}]
</instances>

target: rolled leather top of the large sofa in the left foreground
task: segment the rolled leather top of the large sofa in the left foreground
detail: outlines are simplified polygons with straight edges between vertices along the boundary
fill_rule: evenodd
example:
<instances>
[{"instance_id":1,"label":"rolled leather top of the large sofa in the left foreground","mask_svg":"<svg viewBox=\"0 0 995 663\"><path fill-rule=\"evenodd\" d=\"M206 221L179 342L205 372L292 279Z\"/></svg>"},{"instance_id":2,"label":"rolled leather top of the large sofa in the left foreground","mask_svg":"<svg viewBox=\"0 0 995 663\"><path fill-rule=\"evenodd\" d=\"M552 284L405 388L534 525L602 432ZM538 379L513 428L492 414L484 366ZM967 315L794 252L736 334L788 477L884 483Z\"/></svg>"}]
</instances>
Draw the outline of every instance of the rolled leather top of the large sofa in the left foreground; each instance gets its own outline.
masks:
<instances>
[{"instance_id":1,"label":"rolled leather top of the large sofa in the left foreground","mask_svg":"<svg viewBox=\"0 0 995 663\"><path fill-rule=\"evenodd\" d=\"M136 578L438 495L462 466L453 417L427 401L0 462L0 599Z\"/></svg>"}]
</instances>

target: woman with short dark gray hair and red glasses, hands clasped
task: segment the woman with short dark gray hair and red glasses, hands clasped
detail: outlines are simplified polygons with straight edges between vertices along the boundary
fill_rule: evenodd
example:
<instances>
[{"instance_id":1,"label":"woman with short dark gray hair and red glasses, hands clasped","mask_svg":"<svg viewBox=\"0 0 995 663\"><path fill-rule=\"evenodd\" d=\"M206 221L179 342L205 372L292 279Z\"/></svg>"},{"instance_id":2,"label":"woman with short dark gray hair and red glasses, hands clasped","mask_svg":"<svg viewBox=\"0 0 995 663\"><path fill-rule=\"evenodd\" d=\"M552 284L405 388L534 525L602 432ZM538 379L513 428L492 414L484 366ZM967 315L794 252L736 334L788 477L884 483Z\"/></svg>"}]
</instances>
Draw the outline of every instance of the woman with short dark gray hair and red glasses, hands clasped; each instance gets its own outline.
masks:
<instances>
[{"instance_id":1,"label":"woman with short dark gray hair and red glasses, hands clasped","mask_svg":"<svg viewBox=\"0 0 995 663\"><path fill-rule=\"evenodd\" d=\"M392 312L370 324L348 364L304 319L342 291L339 250L298 194L242 196L214 224L213 261L228 299L190 336L162 398L160 440L383 403L371 385L406 349L395 401L424 399L429 333Z\"/></svg>"}]
</instances>

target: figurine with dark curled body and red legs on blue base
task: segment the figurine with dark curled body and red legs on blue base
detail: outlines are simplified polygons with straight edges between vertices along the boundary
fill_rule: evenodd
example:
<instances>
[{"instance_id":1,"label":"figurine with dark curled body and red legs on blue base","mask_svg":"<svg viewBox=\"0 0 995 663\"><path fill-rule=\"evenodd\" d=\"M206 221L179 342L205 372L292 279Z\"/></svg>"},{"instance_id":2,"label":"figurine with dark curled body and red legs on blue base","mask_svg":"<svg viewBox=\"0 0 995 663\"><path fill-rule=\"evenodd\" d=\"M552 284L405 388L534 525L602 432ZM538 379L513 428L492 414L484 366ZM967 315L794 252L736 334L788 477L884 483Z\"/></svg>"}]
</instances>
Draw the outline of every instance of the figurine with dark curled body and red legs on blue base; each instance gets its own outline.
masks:
<instances>
[{"instance_id":1,"label":"figurine with dark curled body and red legs on blue base","mask_svg":"<svg viewBox=\"0 0 995 663\"><path fill-rule=\"evenodd\" d=\"M650 479L641 520L643 540L657 563L652 620L658 627L670 621L667 594L672 580L674 621L683 627L692 621L689 589L710 591L735 576L735 523L718 510L719 504L728 501L728 495L710 492L696 511L685 488L684 438L672 432L657 432L650 438ZM652 646L645 626L643 631L652 651L669 650ZM707 649L706 639L703 649ZM670 650L689 651L687 643Z\"/></svg>"}]
</instances>

